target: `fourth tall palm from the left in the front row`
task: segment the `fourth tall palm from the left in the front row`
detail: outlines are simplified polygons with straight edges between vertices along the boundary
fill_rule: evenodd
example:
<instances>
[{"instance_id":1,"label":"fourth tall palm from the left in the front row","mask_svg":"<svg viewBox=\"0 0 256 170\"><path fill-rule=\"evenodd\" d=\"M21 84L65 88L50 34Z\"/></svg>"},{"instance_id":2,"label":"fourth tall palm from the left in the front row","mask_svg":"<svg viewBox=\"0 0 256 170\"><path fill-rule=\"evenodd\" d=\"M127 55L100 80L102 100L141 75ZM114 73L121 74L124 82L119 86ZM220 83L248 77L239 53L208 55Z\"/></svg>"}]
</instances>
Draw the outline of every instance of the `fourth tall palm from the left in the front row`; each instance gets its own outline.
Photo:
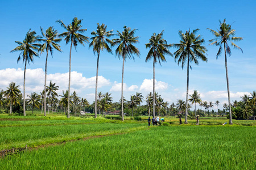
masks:
<instances>
[{"instance_id":1,"label":"fourth tall palm from the left in the front row","mask_svg":"<svg viewBox=\"0 0 256 170\"><path fill-rule=\"evenodd\" d=\"M93 31L90 33L94 37L90 38L92 42L90 42L89 48L93 46L93 52L94 54L98 54L97 58L97 71L96 71L96 88L95 88L95 118L97 117L97 87L98 87L98 60L100 58L100 52L103 51L104 49L107 50L107 52L112 53L111 48L109 47L109 44L112 44L112 40L108 39L108 37L113 36L114 34L113 29L110 31L106 31L107 25L105 24L99 24L97 23L97 30L96 32ZM99 113L100 114L100 113Z\"/></svg>"}]
</instances>

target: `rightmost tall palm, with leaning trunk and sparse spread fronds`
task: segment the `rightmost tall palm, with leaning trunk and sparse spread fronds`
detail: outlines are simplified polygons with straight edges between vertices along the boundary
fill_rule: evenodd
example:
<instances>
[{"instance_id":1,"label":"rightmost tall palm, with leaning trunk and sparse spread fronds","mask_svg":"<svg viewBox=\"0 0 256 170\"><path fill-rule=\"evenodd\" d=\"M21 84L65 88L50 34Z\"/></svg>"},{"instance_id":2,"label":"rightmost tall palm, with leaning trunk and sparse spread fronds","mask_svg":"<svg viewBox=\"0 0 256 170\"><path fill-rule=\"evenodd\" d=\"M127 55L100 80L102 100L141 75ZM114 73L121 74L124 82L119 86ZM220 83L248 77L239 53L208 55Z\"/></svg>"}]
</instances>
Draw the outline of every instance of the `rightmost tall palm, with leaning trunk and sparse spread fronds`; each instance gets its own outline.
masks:
<instances>
[{"instance_id":1,"label":"rightmost tall palm, with leaning trunk and sparse spread fronds","mask_svg":"<svg viewBox=\"0 0 256 170\"><path fill-rule=\"evenodd\" d=\"M243 50L239 46L237 46L236 44L234 44L234 42L232 42L232 41L240 41L240 40L242 40L242 37L234 37L234 35L236 34L236 30L231 29L231 25L226 24L226 19L223 20L223 23L221 23L221 21L220 21L220 29L217 29L218 31L214 31L213 29L210 29L210 28L207 28L207 29L209 29L210 32L212 32L213 35L216 37L216 39L209 40L210 42L212 42L212 43L210 43L210 45L220 46L220 48L218 49L216 59L218 59L218 57L221 56L222 44L224 44L226 86L228 88L228 100L229 100L229 124L232 125L233 122L232 122L232 113L231 113L232 111L231 111L230 92L229 92L228 62L226 59L226 53L228 53L229 56L231 56L231 50L228 45L228 41L231 42L231 45L233 46L233 48L240 49L243 52Z\"/></svg>"}]
</instances>

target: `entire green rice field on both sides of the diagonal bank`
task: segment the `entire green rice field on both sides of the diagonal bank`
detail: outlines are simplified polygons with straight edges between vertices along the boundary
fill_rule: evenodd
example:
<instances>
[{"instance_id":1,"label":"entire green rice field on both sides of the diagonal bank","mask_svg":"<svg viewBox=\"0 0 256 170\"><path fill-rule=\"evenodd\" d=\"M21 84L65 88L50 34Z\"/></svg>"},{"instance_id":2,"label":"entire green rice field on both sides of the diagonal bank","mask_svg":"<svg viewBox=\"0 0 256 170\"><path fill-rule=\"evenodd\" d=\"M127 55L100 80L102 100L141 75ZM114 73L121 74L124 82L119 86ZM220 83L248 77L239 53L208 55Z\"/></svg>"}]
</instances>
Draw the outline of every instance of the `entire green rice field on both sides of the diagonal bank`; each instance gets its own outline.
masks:
<instances>
[{"instance_id":1,"label":"entire green rice field on both sides of the diagonal bank","mask_svg":"<svg viewBox=\"0 0 256 170\"><path fill-rule=\"evenodd\" d=\"M256 169L255 126L170 124L174 120L167 118L168 126L150 128L146 121L105 118L2 120L1 150L24 145L29 149L5 156L0 167Z\"/></svg>"}]
</instances>

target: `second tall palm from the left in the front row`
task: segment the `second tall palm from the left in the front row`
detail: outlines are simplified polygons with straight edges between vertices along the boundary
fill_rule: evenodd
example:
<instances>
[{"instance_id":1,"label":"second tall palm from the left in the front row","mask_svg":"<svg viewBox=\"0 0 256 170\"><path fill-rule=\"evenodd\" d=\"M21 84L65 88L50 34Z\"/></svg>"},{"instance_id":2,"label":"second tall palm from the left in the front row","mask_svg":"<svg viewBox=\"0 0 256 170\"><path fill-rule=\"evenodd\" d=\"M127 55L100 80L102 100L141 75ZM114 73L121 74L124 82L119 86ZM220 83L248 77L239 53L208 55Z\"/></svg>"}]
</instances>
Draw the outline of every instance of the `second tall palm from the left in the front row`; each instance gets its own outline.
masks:
<instances>
[{"instance_id":1,"label":"second tall palm from the left in the front row","mask_svg":"<svg viewBox=\"0 0 256 170\"><path fill-rule=\"evenodd\" d=\"M58 32L57 30L54 30L53 27L49 27L46 29L46 33L43 32L43 28L41 28L41 33L42 36L45 37L46 39L40 39L40 41L43 41L44 44L42 44L41 47L41 54L44 49L46 49L46 70L44 71L44 91L46 91L46 80L47 80L47 59L48 59L48 52L53 53L53 49L58 50L61 52L60 45L57 44L58 42L61 41L61 39L58 39ZM46 116L46 93L44 93L44 116Z\"/></svg>"}]
</instances>

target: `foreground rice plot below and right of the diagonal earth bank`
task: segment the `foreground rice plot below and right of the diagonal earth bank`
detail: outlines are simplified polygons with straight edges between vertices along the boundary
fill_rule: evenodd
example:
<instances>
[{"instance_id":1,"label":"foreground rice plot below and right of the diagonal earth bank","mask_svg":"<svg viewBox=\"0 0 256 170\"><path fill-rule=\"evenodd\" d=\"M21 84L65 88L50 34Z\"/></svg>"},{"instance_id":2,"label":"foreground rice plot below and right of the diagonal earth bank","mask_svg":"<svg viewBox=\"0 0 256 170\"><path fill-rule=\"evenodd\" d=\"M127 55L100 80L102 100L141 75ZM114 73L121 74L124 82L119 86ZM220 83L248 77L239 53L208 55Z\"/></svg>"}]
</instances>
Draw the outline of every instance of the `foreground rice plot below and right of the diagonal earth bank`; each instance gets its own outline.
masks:
<instances>
[{"instance_id":1,"label":"foreground rice plot below and right of the diagonal earth bank","mask_svg":"<svg viewBox=\"0 0 256 170\"><path fill-rule=\"evenodd\" d=\"M27 151L3 159L0 167L255 169L255 133L254 126L159 126Z\"/></svg>"}]
</instances>

